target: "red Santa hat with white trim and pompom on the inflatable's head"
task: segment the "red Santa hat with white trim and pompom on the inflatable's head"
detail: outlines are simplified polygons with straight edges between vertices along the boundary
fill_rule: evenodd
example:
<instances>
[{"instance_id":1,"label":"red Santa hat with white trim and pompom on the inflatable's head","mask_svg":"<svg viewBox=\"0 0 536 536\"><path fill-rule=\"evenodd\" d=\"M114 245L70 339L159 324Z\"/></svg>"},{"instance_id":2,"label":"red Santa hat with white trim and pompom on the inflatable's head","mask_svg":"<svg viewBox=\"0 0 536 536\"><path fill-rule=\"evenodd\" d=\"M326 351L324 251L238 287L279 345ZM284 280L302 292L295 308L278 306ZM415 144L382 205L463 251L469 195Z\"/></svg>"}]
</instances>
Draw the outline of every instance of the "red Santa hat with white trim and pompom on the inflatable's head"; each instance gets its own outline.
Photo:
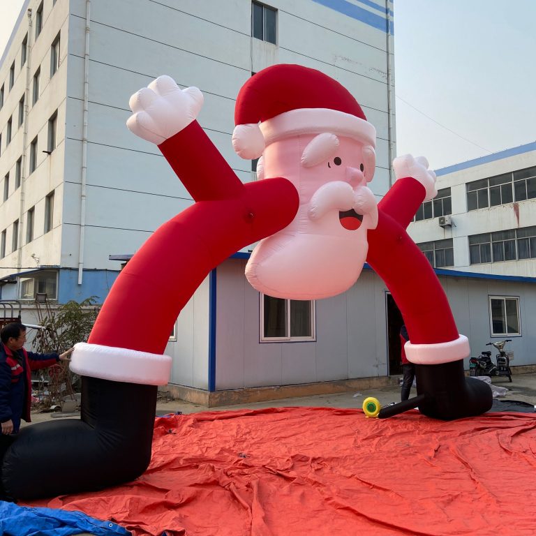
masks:
<instances>
[{"instance_id":1,"label":"red Santa hat with white trim and pompom on the inflatable's head","mask_svg":"<svg viewBox=\"0 0 536 536\"><path fill-rule=\"evenodd\" d=\"M350 91L299 65L274 65L253 75L238 94L234 124L232 146L241 158L258 158L270 143L301 133L330 132L375 147L375 128Z\"/></svg>"}]
</instances>

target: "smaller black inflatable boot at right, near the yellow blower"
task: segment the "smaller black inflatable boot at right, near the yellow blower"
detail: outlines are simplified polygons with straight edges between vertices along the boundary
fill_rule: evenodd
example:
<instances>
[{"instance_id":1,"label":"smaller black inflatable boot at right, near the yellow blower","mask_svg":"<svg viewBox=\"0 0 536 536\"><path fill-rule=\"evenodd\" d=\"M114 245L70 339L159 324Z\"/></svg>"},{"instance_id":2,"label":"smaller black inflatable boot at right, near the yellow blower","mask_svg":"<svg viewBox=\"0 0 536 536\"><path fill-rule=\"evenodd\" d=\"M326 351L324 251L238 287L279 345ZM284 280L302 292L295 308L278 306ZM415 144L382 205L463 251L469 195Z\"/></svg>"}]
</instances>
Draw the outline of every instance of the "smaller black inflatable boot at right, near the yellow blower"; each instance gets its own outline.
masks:
<instances>
[{"instance_id":1,"label":"smaller black inflatable boot at right, near the yellow blower","mask_svg":"<svg viewBox=\"0 0 536 536\"><path fill-rule=\"evenodd\" d=\"M415 365L417 394L425 395L419 412L450 421L482 415L491 409L493 394L486 382L466 378L463 359L439 365Z\"/></svg>"}]
</instances>

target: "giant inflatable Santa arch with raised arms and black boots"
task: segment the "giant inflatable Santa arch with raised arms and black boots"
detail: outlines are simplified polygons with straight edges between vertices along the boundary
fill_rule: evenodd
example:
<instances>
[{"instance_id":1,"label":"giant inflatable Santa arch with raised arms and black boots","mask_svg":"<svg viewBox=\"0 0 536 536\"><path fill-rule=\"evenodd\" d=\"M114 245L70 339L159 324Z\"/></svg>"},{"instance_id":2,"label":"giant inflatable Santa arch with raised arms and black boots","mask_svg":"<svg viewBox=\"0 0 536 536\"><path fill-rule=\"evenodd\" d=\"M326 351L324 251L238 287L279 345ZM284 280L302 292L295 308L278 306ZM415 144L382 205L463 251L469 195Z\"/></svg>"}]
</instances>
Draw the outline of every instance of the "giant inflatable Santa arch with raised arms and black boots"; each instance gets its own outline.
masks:
<instances>
[{"instance_id":1,"label":"giant inflatable Santa arch with raised arms and black boots","mask_svg":"<svg viewBox=\"0 0 536 536\"><path fill-rule=\"evenodd\" d=\"M468 340L405 232L436 193L426 159L396 158L396 182L376 204L367 186L375 128L355 98L318 70L276 65L251 77L237 98L234 149L260 157L258 181L242 184L196 121L202 102L199 89L181 90L168 76L131 98L128 128L158 145L195 203L128 262L88 343L76 345L71 369L82 375L82 418L24 428L8 450L2 479L14 497L101 489L144 472L156 389L170 373L163 352L172 325L211 269L258 240L246 276L267 295L334 296L355 283L365 261L383 278L410 333L405 352L416 366L417 397L380 417L416 405L446 420L491 408L491 389L464 375ZM154 278L163 259L169 275ZM137 311L158 295L168 297L158 322L134 330Z\"/></svg>"}]
</instances>

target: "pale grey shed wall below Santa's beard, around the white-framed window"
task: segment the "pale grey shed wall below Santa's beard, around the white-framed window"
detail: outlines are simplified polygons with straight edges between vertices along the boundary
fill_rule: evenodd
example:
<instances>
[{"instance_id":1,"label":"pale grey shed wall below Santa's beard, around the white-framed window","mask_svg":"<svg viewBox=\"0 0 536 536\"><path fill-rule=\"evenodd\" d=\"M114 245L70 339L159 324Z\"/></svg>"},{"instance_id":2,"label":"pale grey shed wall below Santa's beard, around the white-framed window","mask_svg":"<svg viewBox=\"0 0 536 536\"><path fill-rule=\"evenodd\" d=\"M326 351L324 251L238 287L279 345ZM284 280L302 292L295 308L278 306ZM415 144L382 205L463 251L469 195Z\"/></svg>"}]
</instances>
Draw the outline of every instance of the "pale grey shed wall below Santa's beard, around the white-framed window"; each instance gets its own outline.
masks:
<instances>
[{"instance_id":1,"label":"pale grey shed wall below Santa's beard, around the white-framed window","mask_svg":"<svg viewBox=\"0 0 536 536\"><path fill-rule=\"evenodd\" d=\"M260 341L260 295L245 266L232 259L217 269L217 390L387 375L387 288L373 271L316 301L315 341L280 343Z\"/></svg>"}]
</instances>

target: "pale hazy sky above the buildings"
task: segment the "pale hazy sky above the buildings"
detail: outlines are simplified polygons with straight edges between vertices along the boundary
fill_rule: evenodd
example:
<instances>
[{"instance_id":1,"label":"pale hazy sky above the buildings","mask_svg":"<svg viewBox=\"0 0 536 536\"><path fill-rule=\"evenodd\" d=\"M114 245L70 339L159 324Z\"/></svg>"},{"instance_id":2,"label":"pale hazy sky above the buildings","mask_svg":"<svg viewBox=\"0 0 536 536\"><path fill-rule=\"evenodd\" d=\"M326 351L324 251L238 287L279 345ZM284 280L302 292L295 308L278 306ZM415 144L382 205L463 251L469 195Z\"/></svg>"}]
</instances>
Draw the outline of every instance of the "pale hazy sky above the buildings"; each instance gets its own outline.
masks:
<instances>
[{"instance_id":1,"label":"pale hazy sky above the buildings","mask_svg":"<svg viewBox=\"0 0 536 536\"><path fill-rule=\"evenodd\" d=\"M2 52L22 3L0 0ZM536 0L395 0L397 153L439 169L536 141L535 20Z\"/></svg>"}]
</instances>

